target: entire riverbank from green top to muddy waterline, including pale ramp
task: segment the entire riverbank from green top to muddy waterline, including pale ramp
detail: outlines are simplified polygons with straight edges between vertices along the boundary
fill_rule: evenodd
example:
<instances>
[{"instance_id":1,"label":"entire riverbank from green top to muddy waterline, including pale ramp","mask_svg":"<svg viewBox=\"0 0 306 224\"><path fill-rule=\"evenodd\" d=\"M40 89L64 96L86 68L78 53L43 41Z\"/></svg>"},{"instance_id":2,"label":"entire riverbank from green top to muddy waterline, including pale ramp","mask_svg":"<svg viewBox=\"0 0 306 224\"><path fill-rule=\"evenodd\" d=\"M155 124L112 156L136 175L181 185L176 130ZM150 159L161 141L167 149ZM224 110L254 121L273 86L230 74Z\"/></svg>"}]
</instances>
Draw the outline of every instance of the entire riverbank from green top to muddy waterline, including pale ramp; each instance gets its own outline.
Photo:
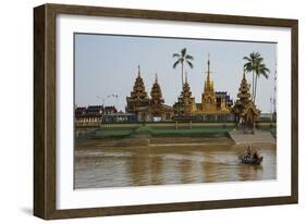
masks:
<instances>
[{"instance_id":1,"label":"entire riverbank from green top to muddy waterline, including pale ramp","mask_svg":"<svg viewBox=\"0 0 306 224\"><path fill-rule=\"evenodd\" d=\"M76 136L76 148L81 144L95 144L99 147L142 147L142 146L187 146L187 145L207 145L213 142L261 142L262 135L267 136L262 142L274 142L271 133L276 127L269 126L259 129L260 135L246 136L236 133L233 124L184 124L178 127L169 124L150 124L138 126L115 125L108 127L98 127ZM257 132L256 132L257 133ZM264 134L262 134L264 133ZM262 135L261 135L262 134Z\"/></svg>"}]
</instances>

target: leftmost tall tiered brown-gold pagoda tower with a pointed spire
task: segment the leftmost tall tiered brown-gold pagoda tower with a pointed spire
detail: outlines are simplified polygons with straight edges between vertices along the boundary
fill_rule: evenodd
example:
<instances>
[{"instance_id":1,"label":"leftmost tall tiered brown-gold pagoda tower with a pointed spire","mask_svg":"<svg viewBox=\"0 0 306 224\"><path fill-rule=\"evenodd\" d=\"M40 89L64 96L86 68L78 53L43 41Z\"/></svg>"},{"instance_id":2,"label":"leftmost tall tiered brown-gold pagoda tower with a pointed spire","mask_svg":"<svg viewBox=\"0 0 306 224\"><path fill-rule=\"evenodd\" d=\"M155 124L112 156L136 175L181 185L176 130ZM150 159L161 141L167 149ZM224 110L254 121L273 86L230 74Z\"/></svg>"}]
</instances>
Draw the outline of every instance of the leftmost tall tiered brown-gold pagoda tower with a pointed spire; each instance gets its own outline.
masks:
<instances>
[{"instance_id":1,"label":"leftmost tall tiered brown-gold pagoda tower with a pointed spire","mask_svg":"<svg viewBox=\"0 0 306 224\"><path fill-rule=\"evenodd\" d=\"M135 113L138 107L149 105L150 99L147 96L144 80L140 76L140 66L138 66L138 73L136 80L131 91L131 96L126 97L126 112Z\"/></svg>"}]
</instances>

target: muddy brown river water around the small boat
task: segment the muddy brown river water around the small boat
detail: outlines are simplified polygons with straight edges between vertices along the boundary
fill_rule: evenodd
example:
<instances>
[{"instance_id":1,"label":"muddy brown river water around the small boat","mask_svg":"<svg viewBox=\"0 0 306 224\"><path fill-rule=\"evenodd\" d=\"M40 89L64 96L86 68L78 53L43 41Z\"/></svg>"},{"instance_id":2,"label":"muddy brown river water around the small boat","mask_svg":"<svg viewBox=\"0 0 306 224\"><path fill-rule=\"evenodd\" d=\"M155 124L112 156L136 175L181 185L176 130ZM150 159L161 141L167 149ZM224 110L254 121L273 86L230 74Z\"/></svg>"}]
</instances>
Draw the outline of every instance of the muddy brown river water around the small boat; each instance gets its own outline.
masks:
<instances>
[{"instance_id":1,"label":"muddy brown river water around the small boat","mask_svg":"<svg viewBox=\"0 0 306 224\"><path fill-rule=\"evenodd\" d=\"M240 164L246 146L231 141L191 146L77 147L74 188L127 187L277 178L276 145L256 144L261 165Z\"/></svg>"}]
</instances>

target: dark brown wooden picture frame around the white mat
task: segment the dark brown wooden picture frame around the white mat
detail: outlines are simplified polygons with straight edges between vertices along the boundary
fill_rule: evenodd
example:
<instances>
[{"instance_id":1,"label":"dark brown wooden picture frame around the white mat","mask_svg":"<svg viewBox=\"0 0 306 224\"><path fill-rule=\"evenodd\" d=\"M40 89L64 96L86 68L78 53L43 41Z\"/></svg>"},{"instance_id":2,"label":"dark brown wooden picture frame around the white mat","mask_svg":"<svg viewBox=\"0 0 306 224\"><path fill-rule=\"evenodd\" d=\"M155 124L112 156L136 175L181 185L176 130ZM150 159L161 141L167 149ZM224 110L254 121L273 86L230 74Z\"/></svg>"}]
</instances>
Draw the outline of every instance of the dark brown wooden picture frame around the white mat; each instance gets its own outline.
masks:
<instances>
[{"instance_id":1,"label":"dark brown wooden picture frame around the white mat","mask_svg":"<svg viewBox=\"0 0 306 224\"><path fill-rule=\"evenodd\" d=\"M235 200L176 202L58 210L56 207L56 17L59 14L168 20L212 24L241 24L291 28L292 142L291 196ZM264 18L184 12L44 4L34 9L34 214L52 219L87 217L150 212L222 209L297 203L298 199L298 82L296 20Z\"/></svg>"}]
</instances>

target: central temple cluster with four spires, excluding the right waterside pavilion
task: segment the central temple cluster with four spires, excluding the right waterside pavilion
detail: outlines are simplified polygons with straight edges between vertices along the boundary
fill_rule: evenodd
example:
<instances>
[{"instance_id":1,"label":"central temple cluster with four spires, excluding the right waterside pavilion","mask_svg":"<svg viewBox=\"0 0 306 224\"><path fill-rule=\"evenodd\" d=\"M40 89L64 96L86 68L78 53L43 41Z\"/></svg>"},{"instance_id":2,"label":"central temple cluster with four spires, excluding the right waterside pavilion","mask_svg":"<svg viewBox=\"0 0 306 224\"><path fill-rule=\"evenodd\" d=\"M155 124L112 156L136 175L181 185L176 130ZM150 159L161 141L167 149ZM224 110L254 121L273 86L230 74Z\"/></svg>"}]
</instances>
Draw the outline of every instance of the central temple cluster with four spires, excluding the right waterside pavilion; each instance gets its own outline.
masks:
<instances>
[{"instance_id":1,"label":"central temple cluster with four spires, excluding the right waterside pavilion","mask_svg":"<svg viewBox=\"0 0 306 224\"><path fill-rule=\"evenodd\" d=\"M149 99L140 76L139 66L133 90L131 96L126 98L126 103L127 113L137 114L138 121L146 122L156 120L170 121L174 117L175 120L189 119L206 122L233 122L235 119L232 112L233 101L227 91L215 90L209 59L207 61L207 72L200 103L196 103L195 98L192 96L186 73L183 89L173 107L164 104L157 75Z\"/></svg>"}]
</instances>

